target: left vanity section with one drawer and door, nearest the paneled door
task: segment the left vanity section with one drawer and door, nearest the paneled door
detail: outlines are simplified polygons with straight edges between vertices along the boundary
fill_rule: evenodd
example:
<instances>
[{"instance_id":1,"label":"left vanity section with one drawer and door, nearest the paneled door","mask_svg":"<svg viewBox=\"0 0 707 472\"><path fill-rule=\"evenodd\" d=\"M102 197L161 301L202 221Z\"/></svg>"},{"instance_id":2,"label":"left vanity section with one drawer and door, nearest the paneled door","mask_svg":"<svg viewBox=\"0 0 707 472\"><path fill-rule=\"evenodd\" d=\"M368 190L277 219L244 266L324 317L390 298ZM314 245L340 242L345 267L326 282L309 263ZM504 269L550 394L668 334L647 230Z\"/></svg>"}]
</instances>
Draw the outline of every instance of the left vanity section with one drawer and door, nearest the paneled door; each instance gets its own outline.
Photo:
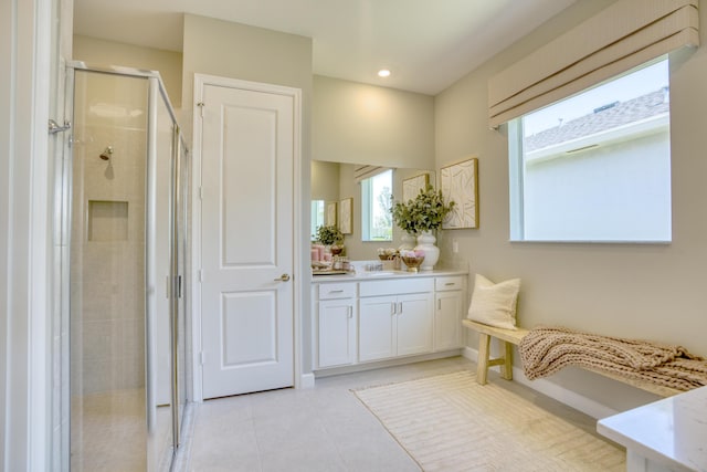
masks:
<instances>
[{"instance_id":1,"label":"left vanity section with one drawer and door, nearest the paneled door","mask_svg":"<svg viewBox=\"0 0 707 472\"><path fill-rule=\"evenodd\" d=\"M316 361L319 368L356 361L356 282L348 282L317 287Z\"/></svg>"}]
</instances>

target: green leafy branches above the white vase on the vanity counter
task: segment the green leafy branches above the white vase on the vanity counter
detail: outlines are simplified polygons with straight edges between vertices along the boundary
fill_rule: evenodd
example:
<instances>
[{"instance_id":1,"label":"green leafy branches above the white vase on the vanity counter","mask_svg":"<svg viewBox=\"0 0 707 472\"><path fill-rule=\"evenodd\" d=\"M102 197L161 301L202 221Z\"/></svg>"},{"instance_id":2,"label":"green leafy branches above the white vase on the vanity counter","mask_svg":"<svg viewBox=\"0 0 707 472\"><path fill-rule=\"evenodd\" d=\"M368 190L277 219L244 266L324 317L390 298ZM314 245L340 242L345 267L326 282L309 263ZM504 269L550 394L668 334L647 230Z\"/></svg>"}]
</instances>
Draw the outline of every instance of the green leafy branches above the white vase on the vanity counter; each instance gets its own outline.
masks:
<instances>
[{"instance_id":1,"label":"green leafy branches above the white vase on the vanity counter","mask_svg":"<svg viewBox=\"0 0 707 472\"><path fill-rule=\"evenodd\" d=\"M454 208L454 201L444 203L442 190L435 191L431 185L408 202L393 201L390 209L393 221L409 234L419 234L436 230L442 225L444 217Z\"/></svg>"}]
</instances>

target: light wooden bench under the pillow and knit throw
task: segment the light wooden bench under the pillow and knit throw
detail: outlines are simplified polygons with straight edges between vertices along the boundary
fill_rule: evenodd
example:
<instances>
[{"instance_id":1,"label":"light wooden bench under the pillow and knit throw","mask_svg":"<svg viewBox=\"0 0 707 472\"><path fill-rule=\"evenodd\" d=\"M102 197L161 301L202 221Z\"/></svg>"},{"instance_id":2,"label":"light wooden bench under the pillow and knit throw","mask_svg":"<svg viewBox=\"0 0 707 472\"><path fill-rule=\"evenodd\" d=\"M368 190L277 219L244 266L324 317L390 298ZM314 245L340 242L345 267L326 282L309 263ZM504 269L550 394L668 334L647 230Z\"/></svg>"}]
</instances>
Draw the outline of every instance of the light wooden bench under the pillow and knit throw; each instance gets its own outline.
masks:
<instances>
[{"instance_id":1,"label":"light wooden bench under the pillow and knit throw","mask_svg":"<svg viewBox=\"0 0 707 472\"><path fill-rule=\"evenodd\" d=\"M493 366L500 366L500 376L506 380L513 380L513 346L517 346L520 344L520 339L523 339L528 334L528 329L497 328L495 326L484 325L471 319L463 319L462 325L478 333L478 360L476 367L476 381L481 385L486 385L488 378L488 368ZM492 337L500 342L503 347L502 350L504 353L503 357L497 357L495 359L489 358ZM580 368L592 371L594 374L599 374L613 380L618 380L623 384L627 384L632 387L650 391L651 394L655 394L661 397L672 397L673 395L683 394L682 390L677 390L675 388L623 377L619 374L605 370L599 370L583 366L581 366Z\"/></svg>"}]
</instances>

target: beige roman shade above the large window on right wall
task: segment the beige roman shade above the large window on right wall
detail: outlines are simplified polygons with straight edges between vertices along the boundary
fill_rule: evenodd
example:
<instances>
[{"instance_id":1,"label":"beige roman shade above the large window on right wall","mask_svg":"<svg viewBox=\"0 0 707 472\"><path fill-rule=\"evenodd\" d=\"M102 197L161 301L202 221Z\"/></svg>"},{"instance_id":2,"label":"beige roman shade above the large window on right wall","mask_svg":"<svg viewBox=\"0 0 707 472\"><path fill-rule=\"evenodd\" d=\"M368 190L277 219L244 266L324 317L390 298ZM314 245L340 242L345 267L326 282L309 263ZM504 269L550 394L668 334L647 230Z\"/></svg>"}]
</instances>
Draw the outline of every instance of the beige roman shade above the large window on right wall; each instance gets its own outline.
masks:
<instances>
[{"instance_id":1,"label":"beige roman shade above the large window on right wall","mask_svg":"<svg viewBox=\"0 0 707 472\"><path fill-rule=\"evenodd\" d=\"M492 127L682 46L699 45L698 0L619 0L488 82Z\"/></svg>"}]
</instances>

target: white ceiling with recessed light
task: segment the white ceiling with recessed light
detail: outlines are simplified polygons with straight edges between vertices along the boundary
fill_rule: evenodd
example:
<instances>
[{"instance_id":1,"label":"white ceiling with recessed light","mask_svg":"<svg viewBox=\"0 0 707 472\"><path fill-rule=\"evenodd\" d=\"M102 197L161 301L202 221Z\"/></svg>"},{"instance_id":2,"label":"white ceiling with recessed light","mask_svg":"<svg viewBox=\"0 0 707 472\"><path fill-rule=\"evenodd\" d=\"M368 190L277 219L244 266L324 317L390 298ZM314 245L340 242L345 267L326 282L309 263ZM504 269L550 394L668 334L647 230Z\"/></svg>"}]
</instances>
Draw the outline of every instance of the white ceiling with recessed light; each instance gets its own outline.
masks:
<instances>
[{"instance_id":1,"label":"white ceiling with recessed light","mask_svg":"<svg viewBox=\"0 0 707 472\"><path fill-rule=\"evenodd\" d=\"M193 13L312 38L315 74L435 95L574 1L74 0L74 32L181 51Z\"/></svg>"}]
</instances>

